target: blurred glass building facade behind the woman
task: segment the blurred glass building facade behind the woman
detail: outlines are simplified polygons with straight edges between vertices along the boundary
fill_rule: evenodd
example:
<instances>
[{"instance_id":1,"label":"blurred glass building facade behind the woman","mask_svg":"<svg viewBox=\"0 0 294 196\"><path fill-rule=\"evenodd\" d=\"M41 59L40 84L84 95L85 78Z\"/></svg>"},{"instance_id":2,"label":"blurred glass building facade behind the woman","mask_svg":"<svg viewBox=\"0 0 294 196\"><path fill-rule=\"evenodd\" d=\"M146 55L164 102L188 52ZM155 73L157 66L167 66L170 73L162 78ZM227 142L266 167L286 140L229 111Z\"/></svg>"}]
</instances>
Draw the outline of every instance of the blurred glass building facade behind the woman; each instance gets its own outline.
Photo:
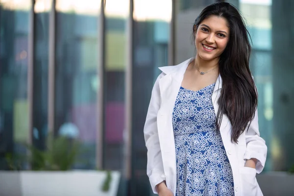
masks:
<instances>
[{"instance_id":1,"label":"blurred glass building facade behind the woman","mask_svg":"<svg viewBox=\"0 0 294 196\"><path fill-rule=\"evenodd\" d=\"M195 55L194 20L216 1L0 0L0 170L59 170L34 152L64 136L79 153L60 170L119 171L118 196L151 196L143 127L158 67ZM252 37L264 171L291 172L294 2L222 1Z\"/></svg>"}]
</instances>

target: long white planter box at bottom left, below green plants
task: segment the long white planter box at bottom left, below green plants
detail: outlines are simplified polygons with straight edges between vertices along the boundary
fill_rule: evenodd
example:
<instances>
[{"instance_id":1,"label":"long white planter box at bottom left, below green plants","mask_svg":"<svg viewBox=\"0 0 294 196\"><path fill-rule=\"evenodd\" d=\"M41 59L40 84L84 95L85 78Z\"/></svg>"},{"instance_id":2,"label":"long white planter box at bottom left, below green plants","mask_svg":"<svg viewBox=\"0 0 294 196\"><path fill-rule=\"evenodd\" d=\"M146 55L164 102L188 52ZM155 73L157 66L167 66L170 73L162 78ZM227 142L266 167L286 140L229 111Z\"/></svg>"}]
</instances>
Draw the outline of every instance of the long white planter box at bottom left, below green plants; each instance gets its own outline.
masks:
<instances>
[{"instance_id":1,"label":"long white planter box at bottom left, below green plants","mask_svg":"<svg viewBox=\"0 0 294 196\"><path fill-rule=\"evenodd\" d=\"M0 196L117 196L120 172L111 172L108 192L102 192L106 172L0 172Z\"/></svg>"}]
</instances>

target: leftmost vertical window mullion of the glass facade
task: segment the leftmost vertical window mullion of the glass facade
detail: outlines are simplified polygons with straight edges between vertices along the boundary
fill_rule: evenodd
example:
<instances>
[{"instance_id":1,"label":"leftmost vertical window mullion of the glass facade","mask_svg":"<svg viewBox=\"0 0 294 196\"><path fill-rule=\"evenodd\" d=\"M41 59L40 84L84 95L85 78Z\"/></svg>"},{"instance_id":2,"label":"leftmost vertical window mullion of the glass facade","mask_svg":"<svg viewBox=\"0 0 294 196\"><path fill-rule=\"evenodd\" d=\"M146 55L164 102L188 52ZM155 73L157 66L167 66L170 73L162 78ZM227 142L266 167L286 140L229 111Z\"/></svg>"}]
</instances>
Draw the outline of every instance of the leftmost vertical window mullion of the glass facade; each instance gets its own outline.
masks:
<instances>
[{"instance_id":1,"label":"leftmost vertical window mullion of the glass facade","mask_svg":"<svg viewBox=\"0 0 294 196\"><path fill-rule=\"evenodd\" d=\"M28 136L27 142L32 145L33 130L33 94L34 94L34 0L31 0L29 13L29 35L28 35L28 67L27 67L27 99L28 99Z\"/></svg>"}]
</instances>

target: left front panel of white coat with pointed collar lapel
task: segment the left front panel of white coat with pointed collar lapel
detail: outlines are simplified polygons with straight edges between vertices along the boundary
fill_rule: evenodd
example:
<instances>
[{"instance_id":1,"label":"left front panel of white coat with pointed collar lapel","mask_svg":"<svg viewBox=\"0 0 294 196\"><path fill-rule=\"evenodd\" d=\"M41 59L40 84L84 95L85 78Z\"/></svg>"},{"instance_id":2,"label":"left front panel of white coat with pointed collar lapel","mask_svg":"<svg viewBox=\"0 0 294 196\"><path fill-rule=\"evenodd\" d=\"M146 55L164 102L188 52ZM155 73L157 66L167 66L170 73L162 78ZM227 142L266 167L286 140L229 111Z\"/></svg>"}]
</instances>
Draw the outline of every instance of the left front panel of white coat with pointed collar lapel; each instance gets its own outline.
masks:
<instances>
[{"instance_id":1,"label":"left front panel of white coat with pointed collar lapel","mask_svg":"<svg viewBox=\"0 0 294 196\"><path fill-rule=\"evenodd\" d=\"M178 66L161 68L166 73L159 82L161 95L161 107L157 116L158 136L162 152L166 183L169 188L176 187L176 158L175 144L172 127L172 112L174 103L181 87L184 73L191 62L191 59Z\"/></svg>"}]
</instances>

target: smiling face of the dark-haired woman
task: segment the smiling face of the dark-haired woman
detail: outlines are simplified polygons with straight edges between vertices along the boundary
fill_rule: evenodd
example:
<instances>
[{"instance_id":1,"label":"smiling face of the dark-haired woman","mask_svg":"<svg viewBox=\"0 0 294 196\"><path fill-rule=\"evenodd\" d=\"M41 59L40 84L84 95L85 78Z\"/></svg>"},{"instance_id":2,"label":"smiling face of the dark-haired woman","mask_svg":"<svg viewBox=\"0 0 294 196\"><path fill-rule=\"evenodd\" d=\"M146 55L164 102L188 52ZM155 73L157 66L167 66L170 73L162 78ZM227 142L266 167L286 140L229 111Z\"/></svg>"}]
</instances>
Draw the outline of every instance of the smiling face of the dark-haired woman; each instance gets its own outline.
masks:
<instances>
[{"instance_id":1,"label":"smiling face of the dark-haired woman","mask_svg":"<svg viewBox=\"0 0 294 196\"><path fill-rule=\"evenodd\" d=\"M210 16L203 20L195 34L197 55L210 61L219 58L229 41L227 21L218 16Z\"/></svg>"}]
</instances>

